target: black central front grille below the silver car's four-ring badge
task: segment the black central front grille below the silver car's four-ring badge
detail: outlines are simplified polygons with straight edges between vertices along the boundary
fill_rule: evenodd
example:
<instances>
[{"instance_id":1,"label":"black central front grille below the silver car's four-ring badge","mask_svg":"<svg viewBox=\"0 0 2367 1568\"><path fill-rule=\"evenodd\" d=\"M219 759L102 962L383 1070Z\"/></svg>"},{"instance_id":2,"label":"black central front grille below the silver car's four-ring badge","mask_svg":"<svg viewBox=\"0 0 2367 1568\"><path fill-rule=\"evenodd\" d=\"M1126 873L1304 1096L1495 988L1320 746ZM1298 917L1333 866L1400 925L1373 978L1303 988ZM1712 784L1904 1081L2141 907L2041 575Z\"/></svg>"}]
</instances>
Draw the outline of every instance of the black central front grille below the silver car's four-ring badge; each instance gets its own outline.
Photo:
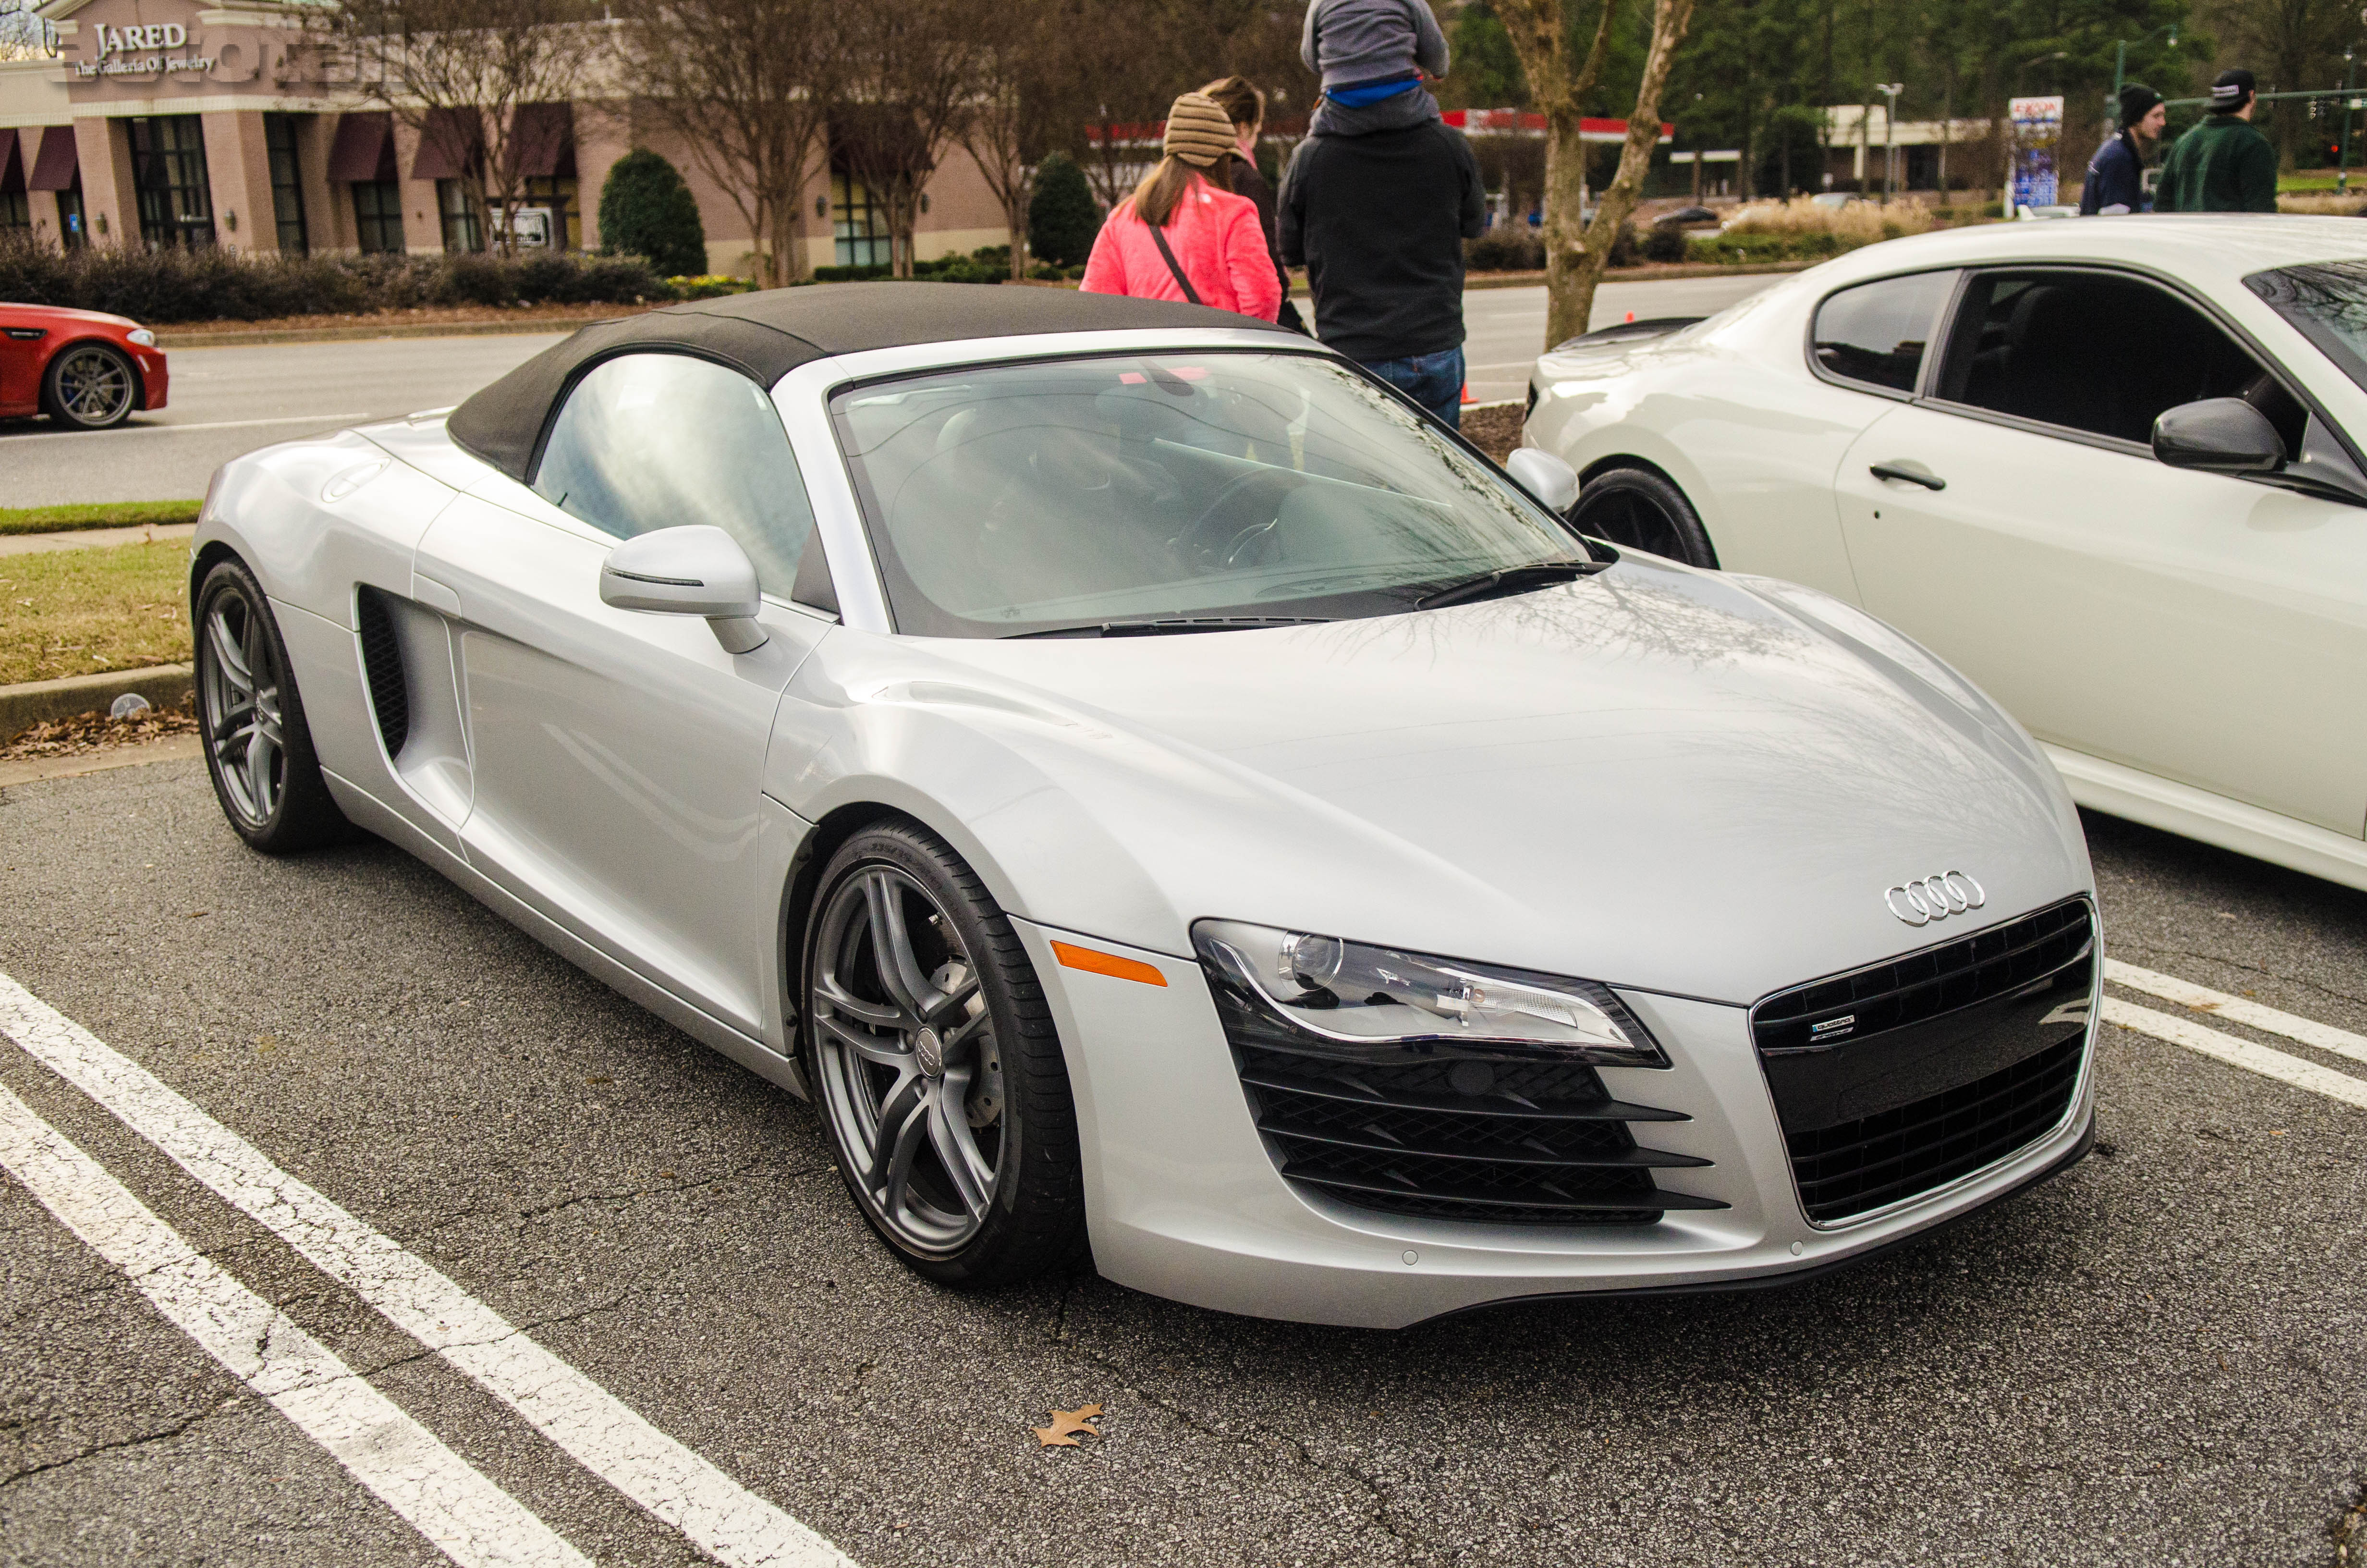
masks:
<instances>
[{"instance_id":1,"label":"black central front grille below the silver car's four-ring badge","mask_svg":"<svg viewBox=\"0 0 2367 1568\"><path fill-rule=\"evenodd\" d=\"M2095 962L2095 917L2066 900L1754 1007L1808 1217L1943 1187L2062 1123Z\"/></svg>"}]
</instances>

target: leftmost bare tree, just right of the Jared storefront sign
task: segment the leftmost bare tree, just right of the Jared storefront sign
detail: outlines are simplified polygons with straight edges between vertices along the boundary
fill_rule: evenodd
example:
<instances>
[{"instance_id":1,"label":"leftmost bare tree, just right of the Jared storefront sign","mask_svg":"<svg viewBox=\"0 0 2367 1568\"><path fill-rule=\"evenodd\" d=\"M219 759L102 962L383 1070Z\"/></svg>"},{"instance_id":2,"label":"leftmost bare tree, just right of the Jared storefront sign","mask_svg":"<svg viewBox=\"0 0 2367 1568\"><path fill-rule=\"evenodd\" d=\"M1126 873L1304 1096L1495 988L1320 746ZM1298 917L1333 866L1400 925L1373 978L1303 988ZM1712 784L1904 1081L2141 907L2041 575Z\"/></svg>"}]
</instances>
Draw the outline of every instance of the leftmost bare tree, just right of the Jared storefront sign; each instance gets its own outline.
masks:
<instances>
[{"instance_id":1,"label":"leftmost bare tree, just right of the Jared storefront sign","mask_svg":"<svg viewBox=\"0 0 2367 1568\"><path fill-rule=\"evenodd\" d=\"M573 104L608 52L594 0L341 0L305 7L312 40L355 85L419 133L490 213L492 244L511 249L511 216L535 142L552 135L530 104Z\"/></svg>"}]
</instances>

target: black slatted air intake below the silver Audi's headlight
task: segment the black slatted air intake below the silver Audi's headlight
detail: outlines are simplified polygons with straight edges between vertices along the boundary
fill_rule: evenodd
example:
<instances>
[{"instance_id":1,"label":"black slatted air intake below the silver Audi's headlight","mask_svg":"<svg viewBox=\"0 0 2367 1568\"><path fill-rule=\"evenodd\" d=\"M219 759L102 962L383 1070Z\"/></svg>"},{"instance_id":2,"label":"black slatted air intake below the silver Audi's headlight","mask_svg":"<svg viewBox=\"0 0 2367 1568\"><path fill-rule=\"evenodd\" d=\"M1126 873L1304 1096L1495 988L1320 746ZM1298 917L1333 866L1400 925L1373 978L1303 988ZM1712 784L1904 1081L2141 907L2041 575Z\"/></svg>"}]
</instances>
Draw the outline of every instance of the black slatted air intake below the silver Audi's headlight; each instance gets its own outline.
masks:
<instances>
[{"instance_id":1,"label":"black slatted air intake below the silver Audi's headlight","mask_svg":"<svg viewBox=\"0 0 2367 1568\"><path fill-rule=\"evenodd\" d=\"M1228 1007L1226 1021L1240 1009ZM1726 1208L1652 1182L1655 1170L1709 1161L1638 1149L1631 1120L1685 1118L1614 1101L1591 1066L1444 1052L1314 1056L1228 1033L1276 1165L1340 1201L1527 1225L1652 1225L1671 1208Z\"/></svg>"}]
</instances>

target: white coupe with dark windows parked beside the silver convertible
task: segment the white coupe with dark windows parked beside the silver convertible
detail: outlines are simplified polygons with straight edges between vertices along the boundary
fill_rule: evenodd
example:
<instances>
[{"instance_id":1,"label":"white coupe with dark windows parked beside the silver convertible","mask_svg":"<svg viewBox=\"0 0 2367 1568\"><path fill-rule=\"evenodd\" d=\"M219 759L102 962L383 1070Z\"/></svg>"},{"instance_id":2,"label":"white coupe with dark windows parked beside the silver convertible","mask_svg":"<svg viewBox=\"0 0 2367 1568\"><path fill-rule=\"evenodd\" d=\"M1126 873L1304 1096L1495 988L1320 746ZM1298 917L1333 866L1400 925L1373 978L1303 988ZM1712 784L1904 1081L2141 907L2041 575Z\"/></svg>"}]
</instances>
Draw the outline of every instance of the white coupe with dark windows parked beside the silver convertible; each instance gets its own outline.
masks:
<instances>
[{"instance_id":1,"label":"white coupe with dark windows parked beside the silver convertible","mask_svg":"<svg viewBox=\"0 0 2367 1568\"><path fill-rule=\"evenodd\" d=\"M1858 604L2097 810L2367 888L2367 223L1868 246L1536 362L1593 535Z\"/></svg>"}]
</instances>

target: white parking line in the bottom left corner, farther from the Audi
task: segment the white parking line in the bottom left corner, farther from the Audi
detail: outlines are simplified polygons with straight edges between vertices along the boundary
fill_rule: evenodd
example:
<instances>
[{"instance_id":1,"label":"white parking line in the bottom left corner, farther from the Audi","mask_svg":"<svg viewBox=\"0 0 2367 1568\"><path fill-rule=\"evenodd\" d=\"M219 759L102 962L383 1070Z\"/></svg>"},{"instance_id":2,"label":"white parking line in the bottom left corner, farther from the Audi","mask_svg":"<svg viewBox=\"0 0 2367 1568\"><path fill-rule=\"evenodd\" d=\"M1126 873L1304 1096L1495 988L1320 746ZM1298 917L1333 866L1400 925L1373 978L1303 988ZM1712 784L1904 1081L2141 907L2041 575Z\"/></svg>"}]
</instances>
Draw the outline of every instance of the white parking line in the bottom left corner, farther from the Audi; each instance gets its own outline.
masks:
<instances>
[{"instance_id":1,"label":"white parking line in the bottom left corner, farther from the Audi","mask_svg":"<svg viewBox=\"0 0 2367 1568\"><path fill-rule=\"evenodd\" d=\"M516 1497L355 1376L334 1350L225 1274L104 1165L0 1087L0 1165L166 1322L272 1402L379 1502L466 1568L592 1568Z\"/></svg>"}]
</instances>

